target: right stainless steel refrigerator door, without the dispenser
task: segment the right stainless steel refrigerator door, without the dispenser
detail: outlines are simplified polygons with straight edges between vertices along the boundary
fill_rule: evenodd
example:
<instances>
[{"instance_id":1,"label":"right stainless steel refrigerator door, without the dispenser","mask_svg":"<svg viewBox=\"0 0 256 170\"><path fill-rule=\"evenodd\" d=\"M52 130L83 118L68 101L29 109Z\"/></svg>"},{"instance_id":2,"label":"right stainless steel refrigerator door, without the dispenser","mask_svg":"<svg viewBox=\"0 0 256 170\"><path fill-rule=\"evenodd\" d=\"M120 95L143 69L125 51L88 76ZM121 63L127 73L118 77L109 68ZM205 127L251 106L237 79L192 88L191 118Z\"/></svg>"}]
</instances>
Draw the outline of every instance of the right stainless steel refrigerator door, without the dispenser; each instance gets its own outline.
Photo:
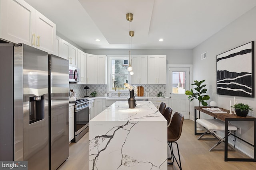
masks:
<instances>
[{"instance_id":1,"label":"right stainless steel refrigerator door, without the dispenser","mask_svg":"<svg viewBox=\"0 0 256 170\"><path fill-rule=\"evenodd\" d=\"M68 60L49 54L50 165L56 170L69 156Z\"/></svg>"}]
</instances>

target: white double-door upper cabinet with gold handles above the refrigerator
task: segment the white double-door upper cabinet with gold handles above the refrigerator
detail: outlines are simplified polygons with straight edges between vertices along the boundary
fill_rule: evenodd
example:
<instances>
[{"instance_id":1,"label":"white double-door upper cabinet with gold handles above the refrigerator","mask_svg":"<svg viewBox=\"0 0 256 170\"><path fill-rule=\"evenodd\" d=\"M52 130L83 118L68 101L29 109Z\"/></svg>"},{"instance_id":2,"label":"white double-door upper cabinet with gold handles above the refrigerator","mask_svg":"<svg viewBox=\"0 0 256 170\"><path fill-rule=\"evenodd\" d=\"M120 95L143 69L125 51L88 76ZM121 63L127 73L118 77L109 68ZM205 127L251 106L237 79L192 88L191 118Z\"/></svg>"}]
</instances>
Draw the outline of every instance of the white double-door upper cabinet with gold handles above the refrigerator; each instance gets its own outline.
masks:
<instances>
[{"instance_id":1,"label":"white double-door upper cabinet with gold handles above the refrigerator","mask_svg":"<svg viewBox=\"0 0 256 170\"><path fill-rule=\"evenodd\" d=\"M23 0L1 0L0 37L54 52L56 25Z\"/></svg>"}]
</instances>

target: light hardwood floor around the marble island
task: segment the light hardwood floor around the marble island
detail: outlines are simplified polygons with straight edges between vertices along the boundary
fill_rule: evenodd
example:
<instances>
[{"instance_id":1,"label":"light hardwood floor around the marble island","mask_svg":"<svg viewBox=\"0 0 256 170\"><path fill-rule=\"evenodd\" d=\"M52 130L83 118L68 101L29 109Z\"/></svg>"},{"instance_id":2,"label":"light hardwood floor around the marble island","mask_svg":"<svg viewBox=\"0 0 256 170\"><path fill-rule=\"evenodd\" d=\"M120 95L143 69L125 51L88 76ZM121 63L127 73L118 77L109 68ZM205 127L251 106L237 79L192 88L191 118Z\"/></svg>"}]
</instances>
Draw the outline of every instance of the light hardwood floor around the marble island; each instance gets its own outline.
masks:
<instances>
[{"instance_id":1,"label":"light hardwood floor around the marble island","mask_svg":"<svg viewBox=\"0 0 256 170\"><path fill-rule=\"evenodd\" d=\"M177 141L183 170L256 170L256 162L225 162L224 151L208 151L216 140L198 141L197 138L198 135L194 135L194 121L184 120L182 135ZM224 148L224 143L220 147ZM228 152L228 154L230 158L244 156L239 151ZM58 170L89 169L89 133L86 133L77 143L70 144L69 155ZM108 170L107 165L104 170ZM176 162L174 165L168 165L168 170L179 170Z\"/></svg>"}]
</instances>

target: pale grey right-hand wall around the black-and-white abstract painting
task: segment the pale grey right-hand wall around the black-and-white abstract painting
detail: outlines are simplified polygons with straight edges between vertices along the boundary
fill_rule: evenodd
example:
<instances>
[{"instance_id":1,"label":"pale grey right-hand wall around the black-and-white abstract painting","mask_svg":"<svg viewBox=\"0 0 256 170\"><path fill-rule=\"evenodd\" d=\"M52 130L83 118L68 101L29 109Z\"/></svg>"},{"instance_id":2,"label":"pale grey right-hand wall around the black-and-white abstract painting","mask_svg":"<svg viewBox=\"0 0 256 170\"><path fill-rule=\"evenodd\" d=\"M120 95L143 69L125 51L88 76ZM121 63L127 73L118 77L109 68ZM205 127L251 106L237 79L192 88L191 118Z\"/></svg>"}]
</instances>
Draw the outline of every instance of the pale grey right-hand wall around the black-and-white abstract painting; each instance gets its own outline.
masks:
<instances>
[{"instance_id":1,"label":"pale grey right-hand wall around the black-and-white abstract painting","mask_svg":"<svg viewBox=\"0 0 256 170\"><path fill-rule=\"evenodd\" d=\"M256 41L256 8L253 8L237 20L230 23L224 29L198 45L193 49L193 80L206 79L206 88L210 95L210 101L217 102L219 107L229 109L230 100L234 96L217 95L216 94L216 55L224 53L230 49L234 49L240 45L244 45L250 41ZM254 47L255 48L255 47ZM206 52L207 58L201 60L201 54ZM255 53L255 52L254 52ZM255 54L254 54L255 55ZM242 61L241 61L242 62ZM232 63L230 63L232 64ZM255 63L254 63L255 65ZM256 69L255 69L256 70ZM255 75L255 73L254 73ZM254 87L255 88L255 87ZM256 117L256 99L236 96L237 102L249 104L254 111L250 111L248 115ZM197 103L193 103L198 106ZM209 104L209 102L208 102ZM190 107L190 112L194 113L194 106ZM201 113L201 118L204 115ZM205 116L206 117L206 116ZM194 117L192 117L194 119ZM242 127L242 134L237 134L242 139L253 144L254 142L254 125L252 122L232 122L238 127ZM237 140L236 146L253 156L254 152L249 145L240 143Z\"/></svg>"}]
</instances>

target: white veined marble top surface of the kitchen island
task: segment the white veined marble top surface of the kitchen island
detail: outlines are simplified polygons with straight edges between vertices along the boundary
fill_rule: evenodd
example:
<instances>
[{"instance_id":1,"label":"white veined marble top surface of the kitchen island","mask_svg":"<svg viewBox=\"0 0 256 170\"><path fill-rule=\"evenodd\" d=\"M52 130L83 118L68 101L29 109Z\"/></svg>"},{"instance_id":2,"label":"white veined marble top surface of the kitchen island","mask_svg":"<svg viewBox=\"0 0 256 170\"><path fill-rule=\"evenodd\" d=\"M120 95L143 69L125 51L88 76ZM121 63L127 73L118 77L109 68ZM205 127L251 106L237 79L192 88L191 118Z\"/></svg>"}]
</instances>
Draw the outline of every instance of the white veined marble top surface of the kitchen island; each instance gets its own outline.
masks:
<instances>
[{"instance_id":1,"label":"white veined marble top surface of the kitchen island","mask_svg":"<svg viewBox=\"0 0 256 170\"><path fill-rule=\"evenodd\" d=\"M129 109L128 101L117 101L90 121L166 121L150 101L137 101Z\"/></svg>"}]
</instances>

